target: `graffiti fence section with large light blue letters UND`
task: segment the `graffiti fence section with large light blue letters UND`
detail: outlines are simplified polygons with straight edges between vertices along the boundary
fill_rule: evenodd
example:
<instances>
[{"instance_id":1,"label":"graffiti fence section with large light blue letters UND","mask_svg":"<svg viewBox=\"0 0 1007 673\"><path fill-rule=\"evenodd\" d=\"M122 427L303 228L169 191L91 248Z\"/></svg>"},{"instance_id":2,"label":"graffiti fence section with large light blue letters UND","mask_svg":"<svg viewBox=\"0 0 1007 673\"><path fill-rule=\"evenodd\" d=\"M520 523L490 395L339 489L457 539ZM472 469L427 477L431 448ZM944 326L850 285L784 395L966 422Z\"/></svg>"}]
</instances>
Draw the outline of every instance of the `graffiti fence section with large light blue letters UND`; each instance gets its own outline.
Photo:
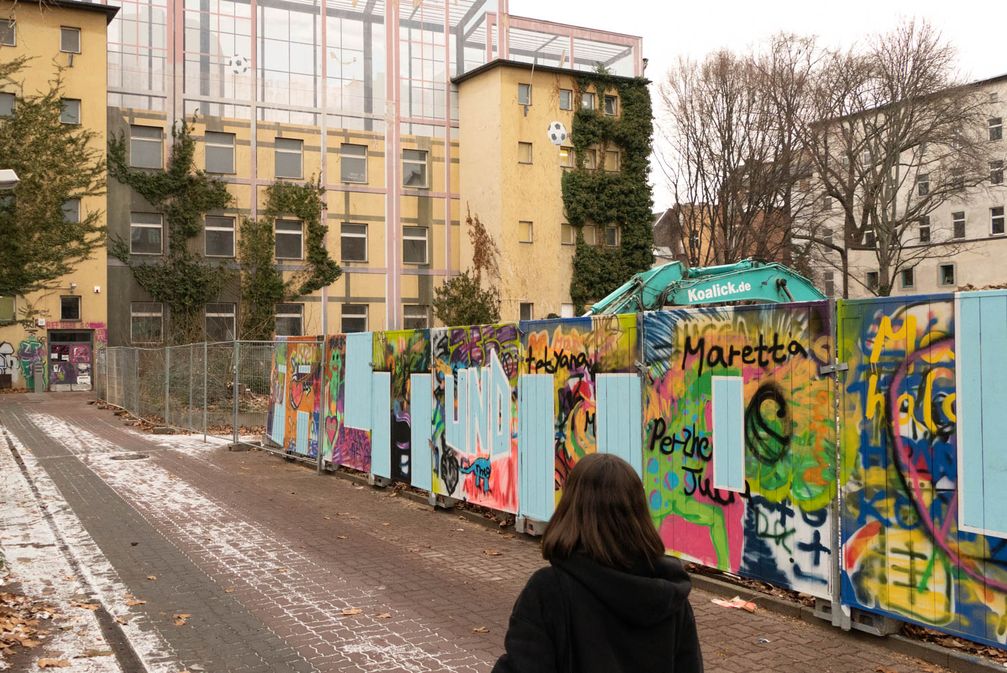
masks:
<instances>
[{"instance_id":1,"label":"graffiti fence section with large light blue letters UND","mask_svg":"<svg viewBox=\"0 0 1007 673\"><path fill-rule=\"evenodd\" d=\"M517 512L518 325L431 329L430 342L434 493Z\"/></svg>"}]
</instances>

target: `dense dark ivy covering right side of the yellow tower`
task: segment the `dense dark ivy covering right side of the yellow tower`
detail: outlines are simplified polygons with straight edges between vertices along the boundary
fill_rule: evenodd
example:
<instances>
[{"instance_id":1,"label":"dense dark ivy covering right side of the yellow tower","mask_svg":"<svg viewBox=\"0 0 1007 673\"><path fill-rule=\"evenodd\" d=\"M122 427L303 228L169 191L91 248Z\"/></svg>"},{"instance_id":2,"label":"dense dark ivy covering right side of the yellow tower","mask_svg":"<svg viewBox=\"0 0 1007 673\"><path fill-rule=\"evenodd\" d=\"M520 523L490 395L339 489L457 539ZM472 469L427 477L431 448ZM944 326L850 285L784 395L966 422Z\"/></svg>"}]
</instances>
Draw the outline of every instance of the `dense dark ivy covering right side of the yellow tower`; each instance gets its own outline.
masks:
<instances>
[{"instance_id":1,"label":"dense dark ivy covering right side of the yellow tower","mask_svg":"<svg viewBox=\"0 0 1007 673\"><path fill-rule=\"evenodd\" d=\"M596 94L602 103L606 93L619 97L620 115L603 114L601 106L580 106L585 93ZM651 94L641 78L620 78L604 71L582 74L577 80L577 112L571 139L576 167L563 175L563 206L567 222L577 228L577 248L570 281L570 297L576 310L597 300L626 281L633 273L654 263L652 229L653 194L648 181L654 131ZM585 150L598 150L598 167L584 167ZM602 170L604 152L621 150L618 171ZM593 246L584 241L585 225L618 225L618 247Z\"/></svg>"}]
</instances>

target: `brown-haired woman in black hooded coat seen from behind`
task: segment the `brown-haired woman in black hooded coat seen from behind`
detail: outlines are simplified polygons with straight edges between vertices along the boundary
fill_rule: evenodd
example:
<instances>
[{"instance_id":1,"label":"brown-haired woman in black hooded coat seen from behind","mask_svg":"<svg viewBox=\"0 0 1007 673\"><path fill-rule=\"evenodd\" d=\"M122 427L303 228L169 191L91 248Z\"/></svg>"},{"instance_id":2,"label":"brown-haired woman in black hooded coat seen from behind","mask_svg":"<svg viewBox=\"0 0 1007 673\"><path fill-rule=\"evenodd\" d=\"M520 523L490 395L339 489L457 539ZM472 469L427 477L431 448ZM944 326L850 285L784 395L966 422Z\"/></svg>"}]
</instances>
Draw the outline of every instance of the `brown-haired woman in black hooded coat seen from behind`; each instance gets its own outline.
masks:
<instances>
[{"instance_id":1,"label":"brown-haired woman in black hooded coat seen from behind","mask_svg":"<svg viewBox=\"0 0 1007 673\"><path fill-rule=\"evenodd\" d=\"M571 470L542 538L550 565L518 596L493 673L701 673L689 575L665 555L621 458Z\"/></svg>"}]
</instances>

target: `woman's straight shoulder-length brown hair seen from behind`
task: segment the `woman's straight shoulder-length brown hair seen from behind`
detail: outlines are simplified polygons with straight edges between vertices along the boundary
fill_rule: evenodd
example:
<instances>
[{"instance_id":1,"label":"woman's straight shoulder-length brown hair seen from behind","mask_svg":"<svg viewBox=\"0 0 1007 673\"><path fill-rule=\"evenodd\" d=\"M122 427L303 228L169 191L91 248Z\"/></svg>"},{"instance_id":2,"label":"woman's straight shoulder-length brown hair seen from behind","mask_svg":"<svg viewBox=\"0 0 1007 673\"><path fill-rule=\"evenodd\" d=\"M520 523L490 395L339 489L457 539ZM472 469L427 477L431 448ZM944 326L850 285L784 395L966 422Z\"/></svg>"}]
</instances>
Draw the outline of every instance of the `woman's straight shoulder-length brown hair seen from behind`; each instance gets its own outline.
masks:
<instances>
[{"instance_id":1,"label":"woman's straight shoulder-length brown hair seen from behind","mask_svg":"<svg viewBox=\"0 0 1007 673\"><path fill-rule=\"evenodd\" d=\"M643 483L616 455L586 455L567 477L542 538L542 555L561 560L575 552L622 570L641 562L653 568L665 553L651 522Z\"/></svg>"}]
</instances>

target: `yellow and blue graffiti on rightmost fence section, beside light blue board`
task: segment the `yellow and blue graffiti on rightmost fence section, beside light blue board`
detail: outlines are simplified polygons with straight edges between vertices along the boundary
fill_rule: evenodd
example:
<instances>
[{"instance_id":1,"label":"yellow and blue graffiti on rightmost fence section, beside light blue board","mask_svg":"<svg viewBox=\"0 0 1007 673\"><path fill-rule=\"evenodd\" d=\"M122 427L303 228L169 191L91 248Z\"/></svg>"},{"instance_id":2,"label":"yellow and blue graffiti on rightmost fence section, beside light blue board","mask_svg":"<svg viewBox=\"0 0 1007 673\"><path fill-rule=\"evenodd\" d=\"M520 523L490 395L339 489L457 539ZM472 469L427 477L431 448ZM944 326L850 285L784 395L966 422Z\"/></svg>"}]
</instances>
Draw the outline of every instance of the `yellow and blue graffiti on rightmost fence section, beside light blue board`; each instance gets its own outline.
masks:
<instances>
[{"instance_id":1,"label":"yellow and blue graffiti on rightmost fence section, beside light blue board","mask_svg":"<svg viewBox=\"0 0 1007 673\"><path fill-rule=\"evenodd\" d=\"M844 601L1007 643L1007 540L959 528L953 295L839 317Z\"/></svg>"}]
</instances>

